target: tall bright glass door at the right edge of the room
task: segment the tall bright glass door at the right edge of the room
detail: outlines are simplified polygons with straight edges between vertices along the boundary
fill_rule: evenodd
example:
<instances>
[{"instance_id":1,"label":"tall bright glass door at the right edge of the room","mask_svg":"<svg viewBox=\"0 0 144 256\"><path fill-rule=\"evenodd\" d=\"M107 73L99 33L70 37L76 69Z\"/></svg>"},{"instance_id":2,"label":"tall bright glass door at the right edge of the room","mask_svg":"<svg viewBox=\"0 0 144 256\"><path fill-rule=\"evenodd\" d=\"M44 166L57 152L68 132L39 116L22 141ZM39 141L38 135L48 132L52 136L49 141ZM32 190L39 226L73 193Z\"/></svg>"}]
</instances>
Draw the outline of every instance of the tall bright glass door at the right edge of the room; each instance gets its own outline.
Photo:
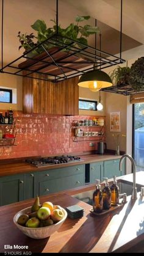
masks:
<instances>
[{"instance_id":1,"label":"tall bright glass door at the right edge of the room","mask_svg":"<svg viewBox=\"0 0 144 256\"><path fill-rule=\"evenodd\" d=\"M133 146L137 170L144 170L144 103L133 105Z\"/></svg>"}]
</instances>

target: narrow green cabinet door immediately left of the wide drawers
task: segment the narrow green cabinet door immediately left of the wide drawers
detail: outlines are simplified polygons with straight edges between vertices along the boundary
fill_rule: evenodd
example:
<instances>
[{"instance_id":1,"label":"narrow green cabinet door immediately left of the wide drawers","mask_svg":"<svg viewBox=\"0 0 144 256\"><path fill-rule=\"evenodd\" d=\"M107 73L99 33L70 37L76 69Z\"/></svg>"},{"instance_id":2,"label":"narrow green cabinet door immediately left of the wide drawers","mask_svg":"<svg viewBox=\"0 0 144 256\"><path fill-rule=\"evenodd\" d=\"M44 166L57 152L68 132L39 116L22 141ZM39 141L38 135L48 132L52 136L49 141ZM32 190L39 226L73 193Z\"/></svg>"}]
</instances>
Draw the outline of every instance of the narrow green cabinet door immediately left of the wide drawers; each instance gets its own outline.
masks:
<instances>
[{"instance_id":1,"label":"narrow green cabinet door immediately left of the wide drawers","mask_svg":"<svg viewBox=\"0 0 144 256\"><path fill-rule=\"evenodd\" d=\"M37 196L37 172L24 174L24 200Z\"/></svg>"}]
</instances>

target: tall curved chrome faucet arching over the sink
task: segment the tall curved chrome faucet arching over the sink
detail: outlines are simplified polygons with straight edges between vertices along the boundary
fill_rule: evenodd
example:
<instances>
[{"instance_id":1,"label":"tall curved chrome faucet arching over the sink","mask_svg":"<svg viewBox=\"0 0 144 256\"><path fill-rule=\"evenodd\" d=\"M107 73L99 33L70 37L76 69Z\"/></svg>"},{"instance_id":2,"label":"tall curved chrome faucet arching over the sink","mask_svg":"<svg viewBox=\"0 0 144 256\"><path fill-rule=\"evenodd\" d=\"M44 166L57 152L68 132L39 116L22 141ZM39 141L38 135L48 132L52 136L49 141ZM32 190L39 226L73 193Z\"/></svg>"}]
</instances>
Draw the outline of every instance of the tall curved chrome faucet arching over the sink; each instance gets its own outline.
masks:
<instances>
[{"instance_id":1,"label":"tall curved chrome faucet arching over the sink","mask_svg":"<svg viewBox=\"0 0 144 256\"><path fill-rule=\"evenodd\" d=\"M134 163L134 159L132 158L132 156L125 154L123 156L121 156L120 158L120 163L119 163L119 170L122 170L122 164L123 164L123 159L128 157L129 160L131 160L132 163L132 170L133 170L133 186L132 186L132 196L131 199L137 199L137 188L136 188L136 181L135 181L135 176L136 176L136 168L135 168L135 163Z\"/></svg>"}]
</instances>

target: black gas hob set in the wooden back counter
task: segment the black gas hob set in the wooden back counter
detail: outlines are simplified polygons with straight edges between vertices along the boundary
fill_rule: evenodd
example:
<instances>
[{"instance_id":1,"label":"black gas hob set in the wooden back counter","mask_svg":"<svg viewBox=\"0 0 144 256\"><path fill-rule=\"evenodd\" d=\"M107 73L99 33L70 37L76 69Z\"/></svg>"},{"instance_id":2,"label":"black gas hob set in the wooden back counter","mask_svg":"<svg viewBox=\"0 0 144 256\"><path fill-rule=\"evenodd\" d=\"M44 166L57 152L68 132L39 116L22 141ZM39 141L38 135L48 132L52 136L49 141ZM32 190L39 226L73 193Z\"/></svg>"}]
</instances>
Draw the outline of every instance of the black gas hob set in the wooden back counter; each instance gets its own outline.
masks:
<instances>
[{"instance_id":1,"label":"black gas hob set in the wooden back counter","mask_svg":"<svg viewBox=\"0 0 144 256\"><path fill-rule=\"evenodd\" d=\"M36 167L50 166L54 164L67 164L82 161L79 156L54 156L45 158L26 159L26 162Z\"/></svg>"}]
</instances>

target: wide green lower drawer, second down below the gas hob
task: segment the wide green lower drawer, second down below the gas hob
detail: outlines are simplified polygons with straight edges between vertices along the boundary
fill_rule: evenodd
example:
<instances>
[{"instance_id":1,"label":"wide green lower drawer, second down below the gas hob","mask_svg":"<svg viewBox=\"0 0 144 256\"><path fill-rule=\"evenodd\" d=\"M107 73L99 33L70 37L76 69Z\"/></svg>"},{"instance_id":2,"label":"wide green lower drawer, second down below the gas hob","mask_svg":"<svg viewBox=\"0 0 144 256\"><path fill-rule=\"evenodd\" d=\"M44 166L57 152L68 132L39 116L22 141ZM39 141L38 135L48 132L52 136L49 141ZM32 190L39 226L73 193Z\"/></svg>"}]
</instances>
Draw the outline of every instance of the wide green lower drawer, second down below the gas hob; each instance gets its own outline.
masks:
<instances>
[{"instance_id":1,"label":"wide green lower drawer, second down below the gas hob","mask_svg":"<svg viewBox=\"0 0 144 256\"><path fill-rule=\"evenodd\" d=\"M39 196L45 196L54 192L59 192L84 185L84 174L77 174L56 180L46 180L39 182Z\"/></svg>"}]
</instances>

